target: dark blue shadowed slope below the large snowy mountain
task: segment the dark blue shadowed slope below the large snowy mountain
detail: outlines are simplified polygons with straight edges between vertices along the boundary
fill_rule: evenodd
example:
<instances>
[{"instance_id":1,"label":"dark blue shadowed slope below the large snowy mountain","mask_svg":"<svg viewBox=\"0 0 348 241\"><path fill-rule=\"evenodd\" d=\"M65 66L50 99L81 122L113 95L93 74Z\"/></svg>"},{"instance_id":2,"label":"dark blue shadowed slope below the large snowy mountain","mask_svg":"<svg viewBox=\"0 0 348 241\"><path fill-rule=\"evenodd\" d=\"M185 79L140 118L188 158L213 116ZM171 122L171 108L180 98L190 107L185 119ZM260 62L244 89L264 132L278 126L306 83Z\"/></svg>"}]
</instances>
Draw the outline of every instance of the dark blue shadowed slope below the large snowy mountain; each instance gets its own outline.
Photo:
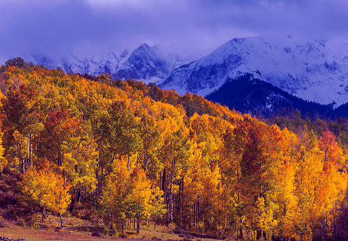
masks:
<instances>
[{"instance_id":1,"label":"dark blue shadowed slope below the large snowy mountain","mask_svg":"<svg viewBox=\"0 0 348 241\"><path fill-rule=\"evenodd\" d=\"M242 113L260 113L264 117L279 110L290 113L296 109L303 117L333 115L332 105L324 106L294 97L270 83L253 78L251 74L227 79L219 90L214 90L205 98Z\"/></svg>"}]
</instances>

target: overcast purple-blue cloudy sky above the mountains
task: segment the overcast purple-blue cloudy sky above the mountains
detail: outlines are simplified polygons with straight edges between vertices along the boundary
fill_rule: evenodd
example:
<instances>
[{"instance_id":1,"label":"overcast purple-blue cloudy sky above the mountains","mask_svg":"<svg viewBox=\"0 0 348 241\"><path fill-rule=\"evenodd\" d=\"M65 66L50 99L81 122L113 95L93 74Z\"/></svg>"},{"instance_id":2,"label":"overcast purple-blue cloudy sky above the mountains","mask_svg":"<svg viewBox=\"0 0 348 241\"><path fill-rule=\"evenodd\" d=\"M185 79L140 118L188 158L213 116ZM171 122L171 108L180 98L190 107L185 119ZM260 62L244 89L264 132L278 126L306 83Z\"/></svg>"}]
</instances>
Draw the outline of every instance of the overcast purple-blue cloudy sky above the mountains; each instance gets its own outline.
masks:
<instances>
[{"instance_id":1,"label":"overcast purple-blue cloudy sky above the mountains","mask_svg":"<svg viewBox=\"0 0 348 241\"><path fill-rule=\"evenodd\" d=\"M273 31L348 33L347 0L0 0L0 64L157 45L205 56L232 38Z\"/></svg>"}]
</instances>

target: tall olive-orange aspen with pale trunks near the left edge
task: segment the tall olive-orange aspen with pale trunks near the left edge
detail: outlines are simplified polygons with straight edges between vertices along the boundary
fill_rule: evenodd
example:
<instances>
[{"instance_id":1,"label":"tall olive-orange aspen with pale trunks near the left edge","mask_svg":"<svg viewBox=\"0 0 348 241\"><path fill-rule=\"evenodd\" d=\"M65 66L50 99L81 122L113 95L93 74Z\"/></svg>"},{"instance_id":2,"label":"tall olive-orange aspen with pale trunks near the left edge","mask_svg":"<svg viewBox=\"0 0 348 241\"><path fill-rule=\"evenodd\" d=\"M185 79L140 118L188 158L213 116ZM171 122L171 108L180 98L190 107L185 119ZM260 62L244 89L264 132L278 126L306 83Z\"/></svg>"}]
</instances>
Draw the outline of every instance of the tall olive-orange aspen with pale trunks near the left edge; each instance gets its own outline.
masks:
<instances>
[{"instance_id":1,"label":"tall olive-orange aspen with pale trunks near the left edge","mask_svg":"<svg viewBox=\"0 0 348 241\"><path fill-rule=\"evenodd\" d=\"M9 147L6 156L24 174L33 164L33 136L43 128L38 113L38 90L22 83L17 88L9 88L2 101L6 115L3 125L7 130L3 140Z\"/></svg>"}]
</instances>

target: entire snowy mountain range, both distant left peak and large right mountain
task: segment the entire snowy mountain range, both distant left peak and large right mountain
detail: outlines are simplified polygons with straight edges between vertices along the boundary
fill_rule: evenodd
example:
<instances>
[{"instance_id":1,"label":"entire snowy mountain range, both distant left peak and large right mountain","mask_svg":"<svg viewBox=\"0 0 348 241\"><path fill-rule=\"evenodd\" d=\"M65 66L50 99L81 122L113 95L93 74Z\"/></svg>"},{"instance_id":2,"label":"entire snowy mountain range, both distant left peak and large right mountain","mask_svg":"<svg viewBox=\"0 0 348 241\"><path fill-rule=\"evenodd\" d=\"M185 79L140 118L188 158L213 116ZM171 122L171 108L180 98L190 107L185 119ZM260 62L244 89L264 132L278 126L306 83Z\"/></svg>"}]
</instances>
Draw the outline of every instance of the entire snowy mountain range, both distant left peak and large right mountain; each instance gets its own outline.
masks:
<instances>
[{"instance_id":1,"label":"entire snowy mountain range, both distant left peak and large right mountain","mask_svg":"<svg viewBox=\"0 0 348 241\"><path fill-rule=\"evenodd\" d=\"M109 73L113 78L155 82L179 94L206 97L226 82L245 74L270 83L306 101L331 104L348 102L348 40L330 38L308 41L285 33L235 38L207 56L192 59L141 44L133 51L61 60L31 56L31 61L65 72Z\"/></svg>"}]
</instances>

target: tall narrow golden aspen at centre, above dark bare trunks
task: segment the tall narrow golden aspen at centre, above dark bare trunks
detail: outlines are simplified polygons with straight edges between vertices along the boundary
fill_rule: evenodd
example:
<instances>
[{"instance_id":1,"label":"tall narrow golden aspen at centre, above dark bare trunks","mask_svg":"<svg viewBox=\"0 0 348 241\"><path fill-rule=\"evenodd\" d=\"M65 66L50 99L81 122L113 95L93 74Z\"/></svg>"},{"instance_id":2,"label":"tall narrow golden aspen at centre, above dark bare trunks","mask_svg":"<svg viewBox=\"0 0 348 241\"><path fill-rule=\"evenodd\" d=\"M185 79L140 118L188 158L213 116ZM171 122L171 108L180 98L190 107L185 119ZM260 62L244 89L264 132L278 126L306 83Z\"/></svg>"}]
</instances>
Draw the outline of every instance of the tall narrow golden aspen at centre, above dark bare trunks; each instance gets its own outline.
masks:
<instances>
[{"instance_id":1,"label":"tall narrow golden aspen at centre, above dark bare trunks","mask_svg":"<svg viewBox=\"0 0 348 241\"><path fill-rule=\"evenodd\" d=\"M168 204L166 222L175 222L175 194L182 196L182 185L176 183L187 172L191 141L189 129L184 124L184 111L166 103L155 103L150 111L157 119L159 128L159 187L164 191L164 200ZM182 210L182 208L179 208ZM178 218L180 219L180 213Z\"/></svg>"}]
</instances>

